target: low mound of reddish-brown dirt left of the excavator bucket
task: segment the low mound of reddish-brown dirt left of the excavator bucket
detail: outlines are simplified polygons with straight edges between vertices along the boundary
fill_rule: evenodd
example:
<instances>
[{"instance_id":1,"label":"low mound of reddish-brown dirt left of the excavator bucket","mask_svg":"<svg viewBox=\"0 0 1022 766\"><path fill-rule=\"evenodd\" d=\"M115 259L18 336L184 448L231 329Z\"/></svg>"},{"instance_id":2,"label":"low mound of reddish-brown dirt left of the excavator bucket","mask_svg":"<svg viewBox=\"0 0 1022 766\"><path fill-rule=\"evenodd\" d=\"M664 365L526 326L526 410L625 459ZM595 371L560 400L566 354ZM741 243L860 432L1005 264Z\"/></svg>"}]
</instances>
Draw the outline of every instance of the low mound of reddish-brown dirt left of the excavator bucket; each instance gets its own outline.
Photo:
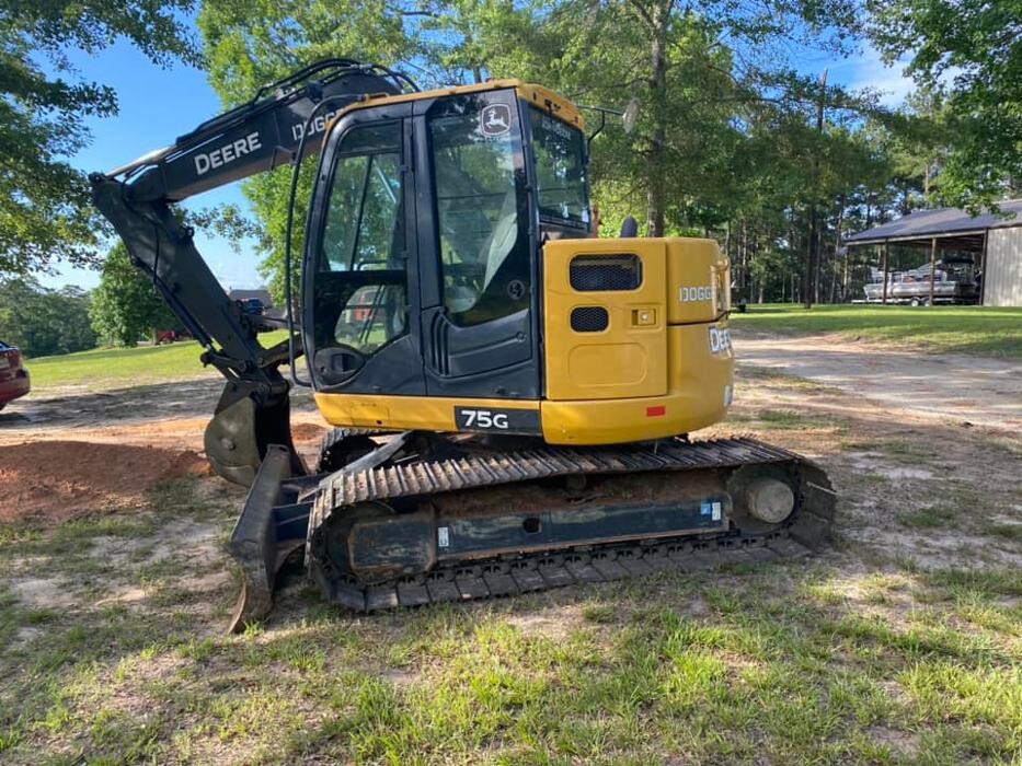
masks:
<instances>
[{"instance_id":1,"label":"low mound of reddish-brown dirt left of the excavator bucket","mask_svg":"<svg viewBox=\"0 0 1022 766\"><path fill-rule=\"evenodd\" d=\"M158 481L209 472L198 453L38 441L0 448L0 521L67 519L137 506Z\"/></svg>"}]
</instances>

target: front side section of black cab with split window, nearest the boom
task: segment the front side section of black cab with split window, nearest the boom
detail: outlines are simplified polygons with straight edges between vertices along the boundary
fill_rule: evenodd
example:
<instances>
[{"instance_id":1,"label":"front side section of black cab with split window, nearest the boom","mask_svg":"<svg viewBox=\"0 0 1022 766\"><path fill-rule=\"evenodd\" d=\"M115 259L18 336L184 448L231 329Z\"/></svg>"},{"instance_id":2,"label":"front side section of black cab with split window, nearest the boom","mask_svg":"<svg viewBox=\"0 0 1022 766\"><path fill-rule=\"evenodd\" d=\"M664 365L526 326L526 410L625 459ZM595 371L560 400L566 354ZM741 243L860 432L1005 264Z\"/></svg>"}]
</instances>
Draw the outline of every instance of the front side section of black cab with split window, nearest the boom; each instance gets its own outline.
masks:
<instances>
[{"instance_id":1,"label":"front side section of black cab with split window, nearest the boom","mask_svg":"<svg viewBox=\"0 0 1022 766\"><path fill-rule=\"evenodd\" d=\"M318 392L425 393L411 105L359 109L320 162L303 262L303 341Z\"/></svg>"}]
</instances>

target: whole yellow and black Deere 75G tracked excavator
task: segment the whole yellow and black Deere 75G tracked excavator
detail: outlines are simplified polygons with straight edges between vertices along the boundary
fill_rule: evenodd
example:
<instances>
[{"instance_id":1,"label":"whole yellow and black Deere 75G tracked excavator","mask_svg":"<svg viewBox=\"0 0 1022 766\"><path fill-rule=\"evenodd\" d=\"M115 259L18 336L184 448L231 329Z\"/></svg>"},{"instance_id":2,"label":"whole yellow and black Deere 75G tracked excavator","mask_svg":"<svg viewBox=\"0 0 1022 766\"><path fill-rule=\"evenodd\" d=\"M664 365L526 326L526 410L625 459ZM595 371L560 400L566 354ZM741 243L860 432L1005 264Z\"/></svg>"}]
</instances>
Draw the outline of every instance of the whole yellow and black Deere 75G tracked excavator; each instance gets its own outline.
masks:
<instances>
[{"instance_id":1,"label":"whole yellow and black Deere 75G tracked excavator","mask_svg":"<svg viewBox=\"0 0 1022 766\"><path fill-rule=\"evenodd\" d=\"M688 437L733 396L727 258L712 240L636 236L633 220L597 239L584 130L539 85L420 91L330 59L91 177L133 262L227 378L205 448L250 486L232 628L268 614L299 557L326 600L374 611L827 539L819 467ZM294 265L288 221L284 317L248 313L173 205L289 165L294 210L313 153ZM264 348L273 326L288 339ZM291 385L311 386L335 427L315 466L291 441Z\"/></svg>"}]
</instances>

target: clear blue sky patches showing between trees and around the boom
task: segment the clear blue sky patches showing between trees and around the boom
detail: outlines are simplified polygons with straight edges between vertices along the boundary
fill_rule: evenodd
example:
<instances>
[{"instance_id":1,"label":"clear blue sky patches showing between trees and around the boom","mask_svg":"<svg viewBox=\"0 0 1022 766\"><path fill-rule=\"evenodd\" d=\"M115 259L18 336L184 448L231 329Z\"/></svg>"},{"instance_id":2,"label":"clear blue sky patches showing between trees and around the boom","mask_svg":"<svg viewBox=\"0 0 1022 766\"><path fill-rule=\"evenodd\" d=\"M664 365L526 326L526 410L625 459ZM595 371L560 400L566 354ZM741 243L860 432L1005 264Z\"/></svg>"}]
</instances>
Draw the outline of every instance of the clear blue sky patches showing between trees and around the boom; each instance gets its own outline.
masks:
<instances>
[{"instance_id":1,"label":"clear blue sky patches showing between trees and around the boom","mask_svg":"<svg viewBox=\"0 0 1022 766\"><path fill-rule=\"evenodd\" d=\"M92 143L71 158L73 165L87 172L107 171L173 143L177 136L221 111L219 98L202 71L183 65L162 69L124 42L95 56L72 53L70 58L82 79L114 88L120 107L113 118L87 118ZM899 104L910 90L900 67L885 67L869 48L860 56L839 60L803 57L797 67L804 72L828 69L829 80L835 84L884 91L883 101L892 106ZM221 202L234 202L249 210L239 185L199 195L188 205L200 208ZM226 288L252 288L261 283L256 271L260 258L251 243L236 253L225 240L203 232L196 232L196 243ZM41 281L48 287L77 285L91 289L99 283L99 272L64 265L58 266L56 274L41 277Z\"/></svg>"}]
</instances>

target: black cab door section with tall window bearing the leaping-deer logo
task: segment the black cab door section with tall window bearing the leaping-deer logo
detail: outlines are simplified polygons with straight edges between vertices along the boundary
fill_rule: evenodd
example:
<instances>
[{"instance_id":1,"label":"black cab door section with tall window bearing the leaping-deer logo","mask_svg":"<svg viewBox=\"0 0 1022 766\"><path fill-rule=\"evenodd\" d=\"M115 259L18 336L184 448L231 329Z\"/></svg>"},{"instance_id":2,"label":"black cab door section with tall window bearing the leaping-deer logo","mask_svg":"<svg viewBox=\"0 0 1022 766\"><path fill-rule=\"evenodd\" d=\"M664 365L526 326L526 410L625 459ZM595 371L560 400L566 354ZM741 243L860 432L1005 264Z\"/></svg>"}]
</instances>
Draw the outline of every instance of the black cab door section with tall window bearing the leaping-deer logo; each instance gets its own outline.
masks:
<instances>
[{"instance_id":1,"label":"black cab door section with tall window bearing the leaping-deer logo","mask_svg":"<svg viewBox=\"0 0 1022 766\"><path fill-rule=\"evenodd\" d=\"M537 227L514 89L416 103L426 392L540 395Z\"/></svg>"}]
</instances>

